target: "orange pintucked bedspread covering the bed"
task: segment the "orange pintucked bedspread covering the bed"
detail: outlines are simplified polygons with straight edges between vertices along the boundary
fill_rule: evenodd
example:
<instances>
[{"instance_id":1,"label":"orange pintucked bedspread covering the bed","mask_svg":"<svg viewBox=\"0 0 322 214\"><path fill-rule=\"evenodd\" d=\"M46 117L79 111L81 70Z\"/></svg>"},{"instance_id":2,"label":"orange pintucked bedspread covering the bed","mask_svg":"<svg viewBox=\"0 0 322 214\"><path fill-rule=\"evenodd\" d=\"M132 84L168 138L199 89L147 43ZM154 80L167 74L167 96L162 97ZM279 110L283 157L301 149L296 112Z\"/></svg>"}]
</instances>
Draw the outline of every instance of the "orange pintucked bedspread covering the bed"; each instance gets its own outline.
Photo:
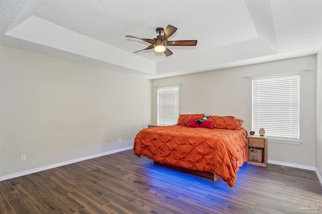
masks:
<instances>
[{"instance_id":1,"label":"orange pintucked bedspread covering the bed","mask_svg":"<svg viewBox=\"0 0 322 214\"><path fill-rule=\"evenodd\" d=\"M142 129L134 154L199 171L215 172L230 187L238 167L247 161L247 130L160 126ZM243 156L243 157L241 157Z\"/></svg>"}]
</instances>

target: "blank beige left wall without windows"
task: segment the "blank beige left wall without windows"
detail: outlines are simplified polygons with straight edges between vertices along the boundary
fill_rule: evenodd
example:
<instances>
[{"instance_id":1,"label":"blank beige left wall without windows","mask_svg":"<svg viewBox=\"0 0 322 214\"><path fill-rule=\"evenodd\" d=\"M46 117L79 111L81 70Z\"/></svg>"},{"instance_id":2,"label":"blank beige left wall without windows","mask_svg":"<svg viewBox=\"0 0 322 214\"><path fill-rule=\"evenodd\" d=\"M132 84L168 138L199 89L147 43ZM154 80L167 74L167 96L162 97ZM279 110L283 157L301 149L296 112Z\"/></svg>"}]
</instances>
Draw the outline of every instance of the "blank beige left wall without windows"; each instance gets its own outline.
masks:
<instances>
[{"instance_id":1,"label":"blank beige left wall without windows","mask_svg":"<svg viewBox=\"0 0 322 214\"><path fill-rule=\"evenodd\" d=\"M133 146L151 121L150 80L0 48L0 177Z\"/></svg>"}]
</instances>

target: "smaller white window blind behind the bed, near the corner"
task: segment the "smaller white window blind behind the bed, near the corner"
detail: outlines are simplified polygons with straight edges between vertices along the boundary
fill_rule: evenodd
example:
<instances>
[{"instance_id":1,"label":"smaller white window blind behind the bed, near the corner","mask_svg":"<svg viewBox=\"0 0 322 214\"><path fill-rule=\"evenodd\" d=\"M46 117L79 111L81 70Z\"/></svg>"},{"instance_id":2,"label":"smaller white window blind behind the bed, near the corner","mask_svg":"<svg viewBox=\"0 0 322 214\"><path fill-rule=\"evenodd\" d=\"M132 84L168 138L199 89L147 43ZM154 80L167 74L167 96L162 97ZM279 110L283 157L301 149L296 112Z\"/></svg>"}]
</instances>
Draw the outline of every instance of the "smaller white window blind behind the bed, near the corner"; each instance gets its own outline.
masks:
<instances>
[{"instance_id":1,"label":"smaller white window blind behind the bed, near the corner","mask_svg":"<svg viewBox=\"0 0 322 214\"><path fill-rule=\"evenodd\" d=\"M157 89L157 124L174 125L179 117L179 86Z\"/></svg>"}]
</instances>

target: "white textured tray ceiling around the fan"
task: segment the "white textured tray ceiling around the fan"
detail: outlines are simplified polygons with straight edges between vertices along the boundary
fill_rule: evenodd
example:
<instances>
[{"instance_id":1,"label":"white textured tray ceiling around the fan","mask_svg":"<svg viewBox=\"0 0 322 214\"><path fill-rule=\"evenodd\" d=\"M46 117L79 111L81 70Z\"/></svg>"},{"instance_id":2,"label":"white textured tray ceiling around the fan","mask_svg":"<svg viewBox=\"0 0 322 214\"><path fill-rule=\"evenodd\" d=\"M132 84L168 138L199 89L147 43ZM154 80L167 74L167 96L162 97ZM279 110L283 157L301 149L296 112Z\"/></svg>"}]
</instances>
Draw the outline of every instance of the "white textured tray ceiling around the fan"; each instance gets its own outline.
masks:
<instances>
[{"instance_id":1,"label":"white textured tray ceiling around the fan","mask_svg":"<svg viewBox=\"0 0 322 214\"><path fill-rule=\"evenodd\" d=\"M2 0L0 44L155 79L316 54L322 0ZM145 49L156 28L195 47Z\"/></svg>"}]
</instances>

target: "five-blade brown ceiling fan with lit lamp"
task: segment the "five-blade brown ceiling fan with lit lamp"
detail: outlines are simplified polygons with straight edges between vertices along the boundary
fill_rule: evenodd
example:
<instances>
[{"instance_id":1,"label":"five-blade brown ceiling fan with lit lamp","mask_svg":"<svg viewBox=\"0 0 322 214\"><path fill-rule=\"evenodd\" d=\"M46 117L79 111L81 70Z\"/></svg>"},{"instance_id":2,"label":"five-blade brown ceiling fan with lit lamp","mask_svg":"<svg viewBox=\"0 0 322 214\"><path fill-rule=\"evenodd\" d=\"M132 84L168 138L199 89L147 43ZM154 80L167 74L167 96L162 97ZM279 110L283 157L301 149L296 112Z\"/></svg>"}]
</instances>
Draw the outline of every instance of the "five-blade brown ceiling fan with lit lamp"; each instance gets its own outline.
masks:
<instances>
[{"instance_id":1,"label":"five-blade brown ceiling fan with lit lamp","mask_svg":"<svg viewBox=\"0 0 322 214\"><path fill-rule=\"evenodd\" d=\"M167 46L196 46L197 45L197 40L168 41L168 38L171 37L177 30L178 29L176 27L173 27L172 25L168 25L166 30L163 28L157 28L156 33L159 35L154 39L141 39L133 36L125 36L125 37L143 40L151 44L147 48L140 51L154 48L155 52L165 52L165 55L169 57L173 53L167 48ZM164 33L163 36L161 35L162 33ZM138 53L140 51L136 51L133 53Z\"/></svg>"}]
</instances>

